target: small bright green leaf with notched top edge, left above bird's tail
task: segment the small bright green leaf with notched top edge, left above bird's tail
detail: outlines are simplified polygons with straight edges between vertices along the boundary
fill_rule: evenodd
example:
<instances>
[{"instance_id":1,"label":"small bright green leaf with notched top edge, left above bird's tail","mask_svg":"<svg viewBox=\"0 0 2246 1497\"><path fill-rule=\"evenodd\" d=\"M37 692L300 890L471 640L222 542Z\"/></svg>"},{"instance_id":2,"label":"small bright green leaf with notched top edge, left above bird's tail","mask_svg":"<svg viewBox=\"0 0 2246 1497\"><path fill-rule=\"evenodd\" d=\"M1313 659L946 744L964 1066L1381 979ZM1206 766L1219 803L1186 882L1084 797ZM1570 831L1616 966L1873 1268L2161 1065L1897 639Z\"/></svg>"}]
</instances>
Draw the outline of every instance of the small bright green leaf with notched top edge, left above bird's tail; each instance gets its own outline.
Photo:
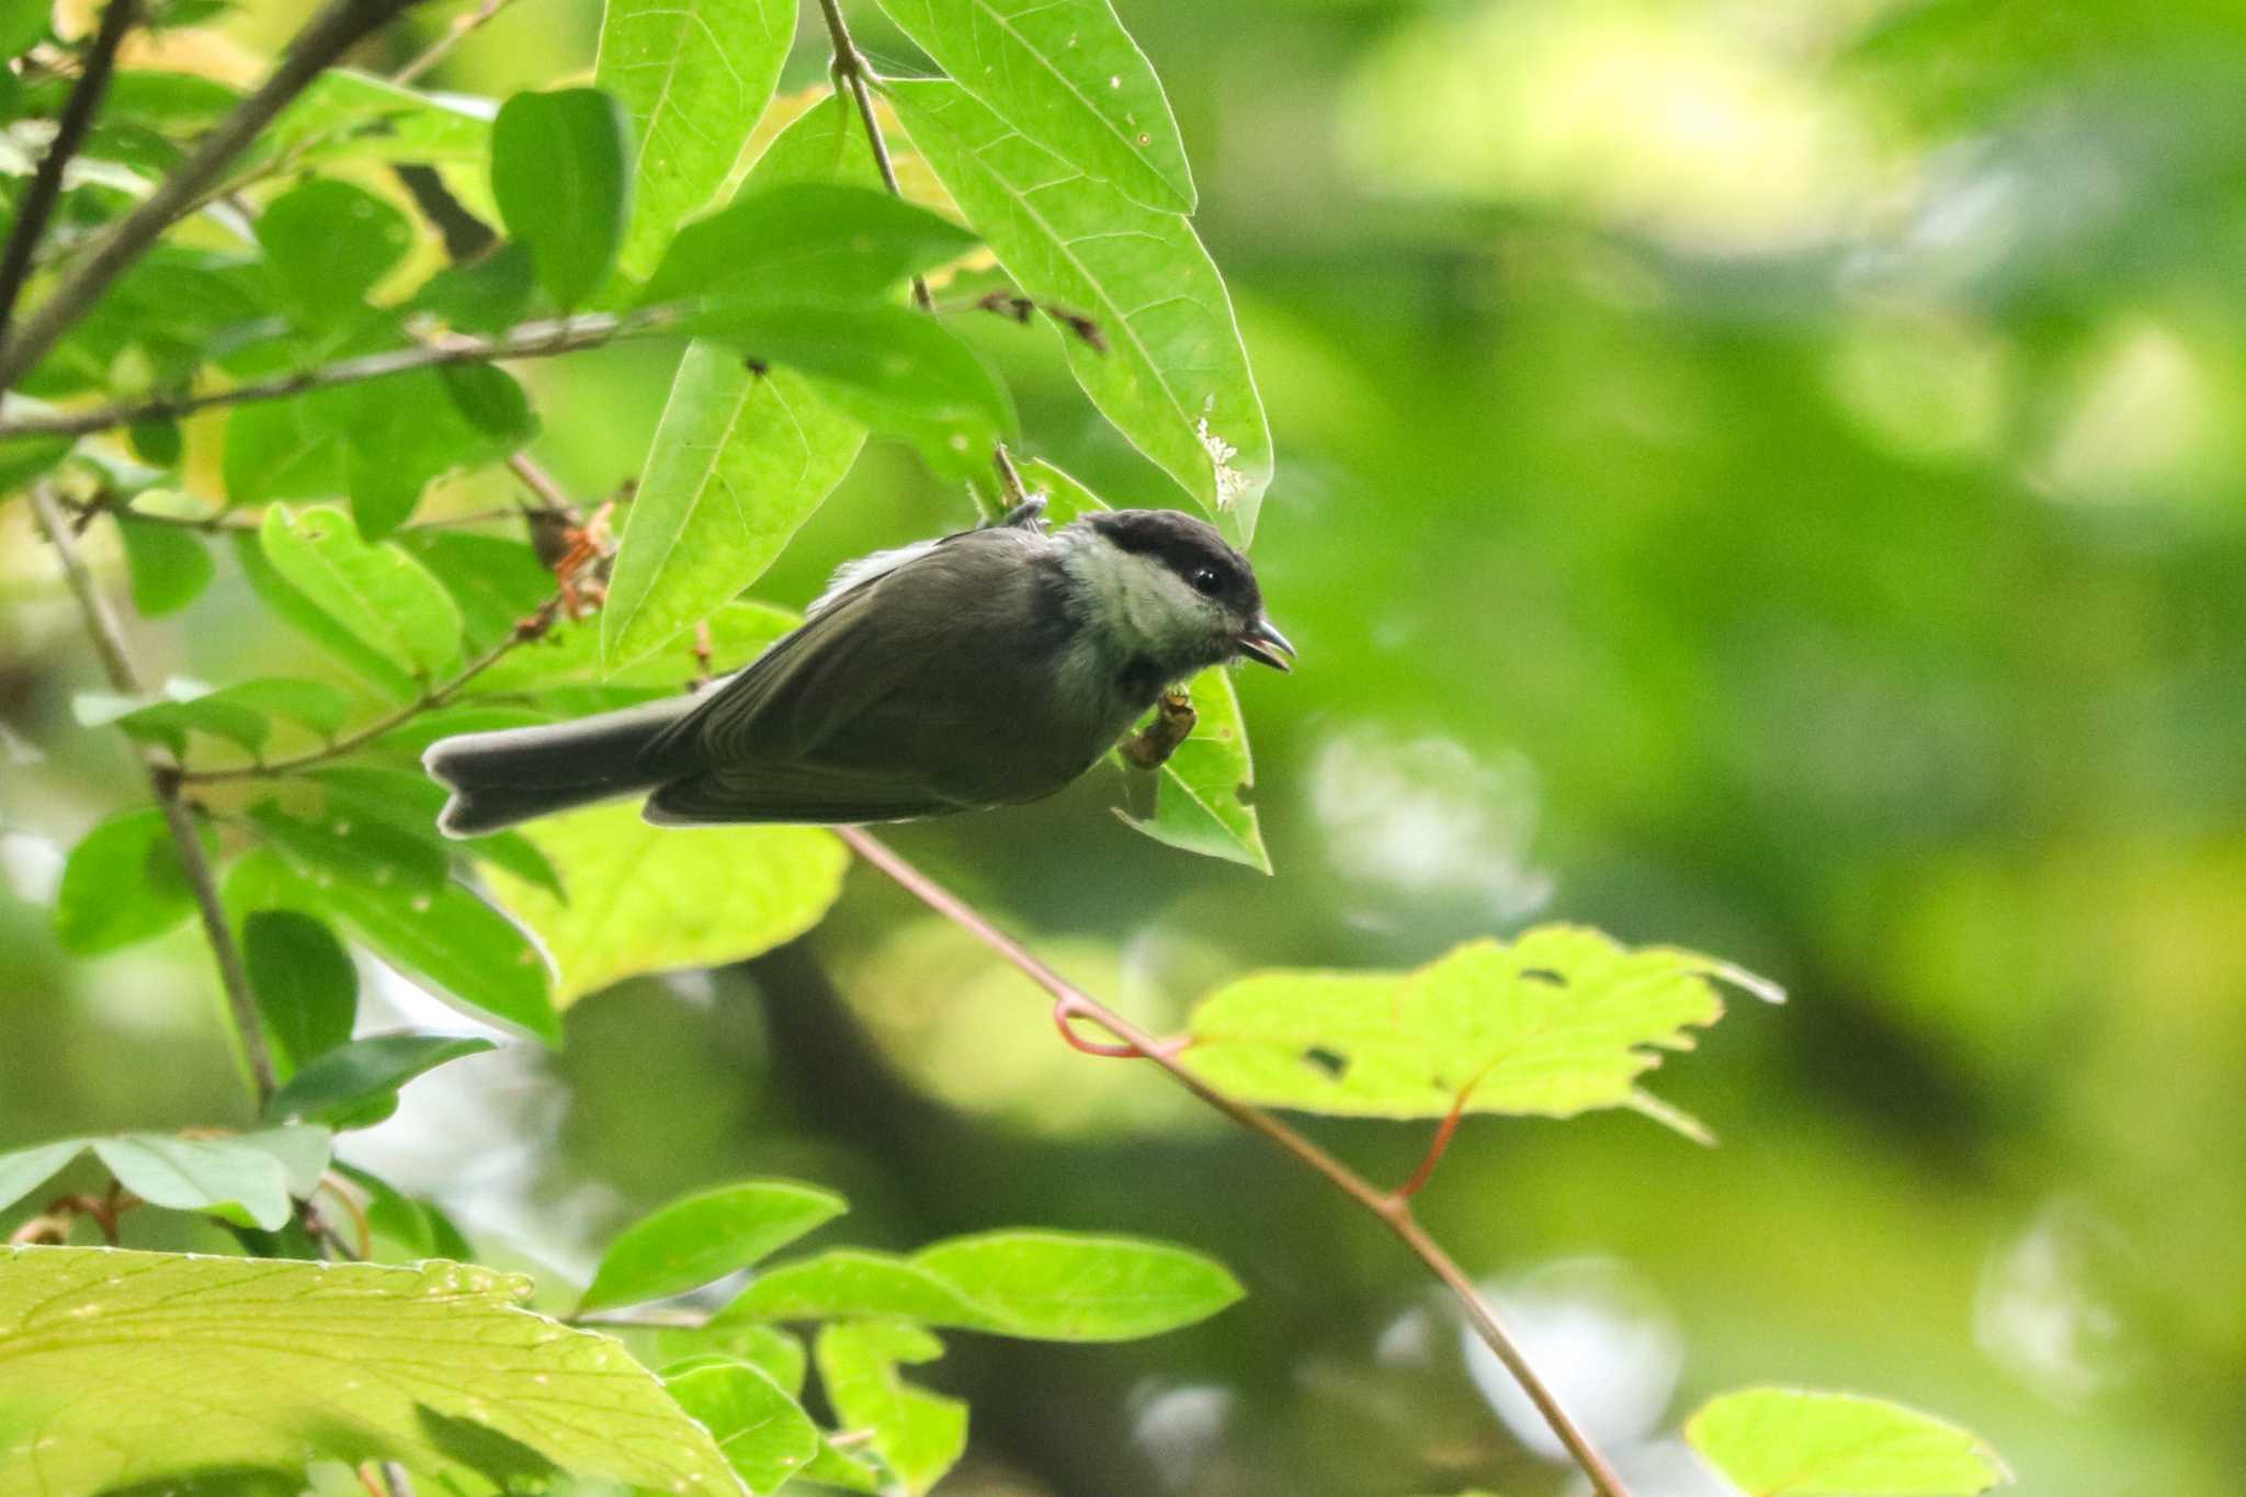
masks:
<instances>
[{"instance_id":1,"label":"small bright green leaf with notched top edge, left above bird's tail","mask_svg":"<svg viewBox=\"0 0 2246 1497\"><path fill-rule=\"evenodd\" d=\"M314 608L420 680L460 653L460 610L407 552L330 505L265 512L265 557Z\"/></svg>"}]
</instances>

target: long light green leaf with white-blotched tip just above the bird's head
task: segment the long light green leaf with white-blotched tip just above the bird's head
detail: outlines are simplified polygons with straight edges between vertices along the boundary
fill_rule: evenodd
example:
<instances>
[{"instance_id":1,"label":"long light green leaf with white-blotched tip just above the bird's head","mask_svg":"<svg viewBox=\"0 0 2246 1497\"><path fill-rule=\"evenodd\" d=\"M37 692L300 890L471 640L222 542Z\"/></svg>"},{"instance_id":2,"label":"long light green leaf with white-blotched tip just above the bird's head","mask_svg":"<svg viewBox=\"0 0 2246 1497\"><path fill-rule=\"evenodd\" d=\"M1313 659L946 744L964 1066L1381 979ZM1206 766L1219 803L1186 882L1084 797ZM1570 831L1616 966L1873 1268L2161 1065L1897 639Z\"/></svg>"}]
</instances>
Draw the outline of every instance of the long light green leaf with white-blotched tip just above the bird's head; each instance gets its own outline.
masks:
<instances>
[{"instance_id":1,"label":"long light green leaf with white-blotched tip just above the bird's head","mask_svg":"<svg viewBox=\"0 0 2246 1497\"><path fill-rule=\"evenodd\" d=\"M892 83L889 99L1015 283L1098 325L1105 352L1062 339L1092 404L1244 545L1271 483L1271 431L1193 224L1071 171L955 83Z\"/></svg>"}]
</instances>

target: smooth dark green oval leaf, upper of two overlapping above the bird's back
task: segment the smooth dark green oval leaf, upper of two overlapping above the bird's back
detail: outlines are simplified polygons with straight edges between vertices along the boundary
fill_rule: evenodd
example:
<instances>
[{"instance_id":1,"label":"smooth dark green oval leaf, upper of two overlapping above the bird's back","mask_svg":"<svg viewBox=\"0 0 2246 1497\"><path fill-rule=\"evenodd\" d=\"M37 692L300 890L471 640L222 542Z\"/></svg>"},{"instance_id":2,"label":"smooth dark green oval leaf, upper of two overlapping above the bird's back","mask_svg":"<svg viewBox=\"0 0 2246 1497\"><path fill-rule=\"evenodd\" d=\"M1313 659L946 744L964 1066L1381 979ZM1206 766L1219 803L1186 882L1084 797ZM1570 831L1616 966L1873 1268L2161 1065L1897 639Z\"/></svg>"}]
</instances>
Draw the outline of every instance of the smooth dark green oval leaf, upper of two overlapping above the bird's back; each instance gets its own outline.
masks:
<instances>
[{"instance_id":1,"label":"smooth dark green oval leaf, upper of two overlapping above the bird's back","mask_svg":"<svg viewBox=\"0 0 2246 1497\"><path fill-rule=\"evenodd\" d=\"M887 191L791 182L681 229L640 303L878 301L973 245L959 224Z\"/></svg>"}]
</instances>

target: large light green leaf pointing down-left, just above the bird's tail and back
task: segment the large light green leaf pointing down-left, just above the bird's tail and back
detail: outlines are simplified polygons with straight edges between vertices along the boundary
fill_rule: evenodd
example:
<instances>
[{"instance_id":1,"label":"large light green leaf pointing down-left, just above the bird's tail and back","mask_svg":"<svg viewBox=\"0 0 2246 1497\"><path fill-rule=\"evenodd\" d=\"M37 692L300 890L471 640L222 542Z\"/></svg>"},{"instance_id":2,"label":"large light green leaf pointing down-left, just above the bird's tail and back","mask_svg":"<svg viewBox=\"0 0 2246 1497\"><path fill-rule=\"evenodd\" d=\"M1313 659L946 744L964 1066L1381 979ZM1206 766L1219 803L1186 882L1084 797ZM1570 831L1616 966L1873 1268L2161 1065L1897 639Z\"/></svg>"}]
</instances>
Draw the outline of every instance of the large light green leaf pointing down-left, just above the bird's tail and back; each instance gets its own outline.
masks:
<instances>
[{"instance_id":1,"label":"large light green leaf pointing down-left, just above the bird's tail and back","mask_svg":"<svg viewBox=\"0 0 2246 1497\"><path fill-rule=\"evenodd\" d=\"M618 545L600 635L622 667L764 575L858 460L865 426L791 370L714 343L678 361Z\"/></svg>"}]
</instances>

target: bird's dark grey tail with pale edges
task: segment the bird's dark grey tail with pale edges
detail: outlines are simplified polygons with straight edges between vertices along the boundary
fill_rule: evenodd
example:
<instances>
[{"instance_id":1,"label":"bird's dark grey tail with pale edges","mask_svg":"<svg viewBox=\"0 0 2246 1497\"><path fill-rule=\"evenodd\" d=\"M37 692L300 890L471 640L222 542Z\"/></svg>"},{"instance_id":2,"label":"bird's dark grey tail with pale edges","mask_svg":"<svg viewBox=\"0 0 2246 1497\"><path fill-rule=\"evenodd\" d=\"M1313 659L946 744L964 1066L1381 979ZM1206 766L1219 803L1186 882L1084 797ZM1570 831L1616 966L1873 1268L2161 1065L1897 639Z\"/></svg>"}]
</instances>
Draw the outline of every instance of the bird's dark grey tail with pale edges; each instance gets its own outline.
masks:
<instances>
[{"instance_id":1,"label":"bird's dark grey tail with pale edges","mask_svg":"<svg viewBox=\"0 0 2246 1497\"><path fill-rule=\"evenodd\" d=\"M555 810L651 790L667 777L642 763L642 750L696 705L687 696L550 727L440 738L422 754L431 779L451 790L436 819L438 830L478 837Z\"/></svg>"}]
</instances>

